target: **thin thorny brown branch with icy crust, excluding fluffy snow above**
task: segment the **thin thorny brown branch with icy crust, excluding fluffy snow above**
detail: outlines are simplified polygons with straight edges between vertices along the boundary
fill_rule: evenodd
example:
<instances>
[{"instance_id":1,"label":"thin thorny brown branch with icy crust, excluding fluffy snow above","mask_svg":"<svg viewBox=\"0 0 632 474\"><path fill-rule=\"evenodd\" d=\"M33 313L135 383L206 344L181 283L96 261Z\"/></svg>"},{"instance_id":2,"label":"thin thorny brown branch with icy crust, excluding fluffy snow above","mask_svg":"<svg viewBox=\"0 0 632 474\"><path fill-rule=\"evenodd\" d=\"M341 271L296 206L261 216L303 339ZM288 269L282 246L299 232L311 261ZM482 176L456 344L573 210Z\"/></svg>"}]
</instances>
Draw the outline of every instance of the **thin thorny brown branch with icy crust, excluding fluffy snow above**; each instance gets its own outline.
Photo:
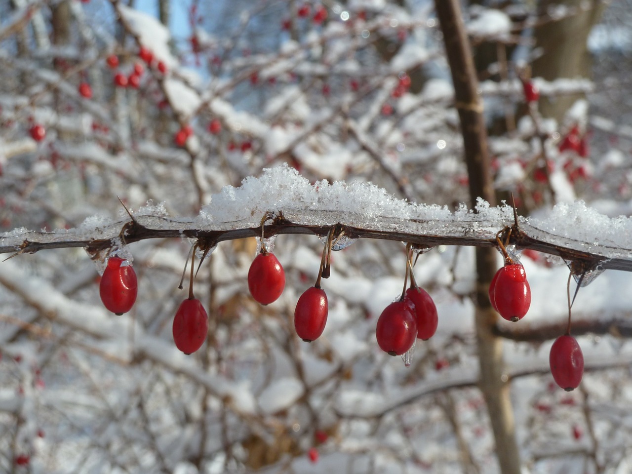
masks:
<instances>
[{"instance_id":1,"label":"thin thorny brown branch with icy crust, excluding fluffy snow above","mask_svg":"<svg viewBox=\"0 0 632 474\"><path fill-rule=\"evenodd\" d=\"M96 253L115 245L125 227L125 243L158 238L193 238L204 248L219 242L257 237L261 228L247 220L200 224L190 220L175 220L155 216L135 216L137 222L119 221L90 231L69 229L63 232L27 231L21 234L0 234L0 253L35 253L54 248L85 247ZM317 222L315 224L315 222ZM265 236L307 234L327 236L329 229L338 226L348 238L372 238L410 242L419 248L437 245L495 247L496 233L511 222L490 221L477 215L465 219L401 219L396 217L363 216L353 212L291 209L277 212L265 226ZM607 245L593 245L585 250L583 241L547 233L521 222L520 229L511 234L510 243L518 248L557 255L564 260L578 262L577 268L632 271L632 249ZM495 269L494 269L495 270ZM485 289L487 291L487 289ZM485 296L487 299L487 296Z\"/></svg>"}]
</instances>

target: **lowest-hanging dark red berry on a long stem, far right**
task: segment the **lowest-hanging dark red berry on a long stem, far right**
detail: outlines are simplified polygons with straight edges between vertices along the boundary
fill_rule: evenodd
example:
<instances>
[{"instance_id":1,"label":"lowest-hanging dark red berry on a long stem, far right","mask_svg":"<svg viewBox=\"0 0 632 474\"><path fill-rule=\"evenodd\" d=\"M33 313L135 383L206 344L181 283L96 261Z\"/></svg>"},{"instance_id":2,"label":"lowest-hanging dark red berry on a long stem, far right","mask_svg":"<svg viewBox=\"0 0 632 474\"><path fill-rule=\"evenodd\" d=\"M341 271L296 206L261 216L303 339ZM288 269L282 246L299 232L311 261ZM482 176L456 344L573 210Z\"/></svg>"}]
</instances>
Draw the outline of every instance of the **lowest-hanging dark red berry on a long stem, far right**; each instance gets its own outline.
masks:
<instances>
[{"instance_id":1,"label":"lowest-hanging dark red berry on a long stem, far right","mask_svg":"<svg viewBox=\"0 0 632 474\"><path fill-rule=\"evenodd\" d=\"M568 334L559 336L549 354L551 374L556 384L570 392L576 389L584 373L584 356L580 344Z\"/></svg>"}]
</instances>

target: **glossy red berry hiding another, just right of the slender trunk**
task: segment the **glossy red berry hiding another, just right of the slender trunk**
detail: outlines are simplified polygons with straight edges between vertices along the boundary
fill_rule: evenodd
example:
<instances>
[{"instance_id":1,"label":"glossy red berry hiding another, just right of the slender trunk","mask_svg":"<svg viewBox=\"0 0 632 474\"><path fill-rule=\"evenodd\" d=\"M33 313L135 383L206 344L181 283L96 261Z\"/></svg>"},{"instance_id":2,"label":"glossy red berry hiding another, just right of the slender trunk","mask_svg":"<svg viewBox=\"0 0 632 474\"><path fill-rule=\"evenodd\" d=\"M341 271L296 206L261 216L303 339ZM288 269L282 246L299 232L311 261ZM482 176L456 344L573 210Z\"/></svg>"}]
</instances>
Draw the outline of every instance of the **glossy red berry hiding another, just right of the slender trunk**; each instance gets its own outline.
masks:
<instances>
[{"instance_id":1,"label":"glossy red berry hiding another, just right of the slender trunk","mask_svg":"<svg viewBox=\"0 0 632 474\"><path fill-rule=\"evenodd\" d=\"M531 305L531 288L526 281L525 267L520 264L505 265L496 272L493 283L489 296L494 309L506 320L516 322L523 319Z\"/></svg>"}]
</instances>

